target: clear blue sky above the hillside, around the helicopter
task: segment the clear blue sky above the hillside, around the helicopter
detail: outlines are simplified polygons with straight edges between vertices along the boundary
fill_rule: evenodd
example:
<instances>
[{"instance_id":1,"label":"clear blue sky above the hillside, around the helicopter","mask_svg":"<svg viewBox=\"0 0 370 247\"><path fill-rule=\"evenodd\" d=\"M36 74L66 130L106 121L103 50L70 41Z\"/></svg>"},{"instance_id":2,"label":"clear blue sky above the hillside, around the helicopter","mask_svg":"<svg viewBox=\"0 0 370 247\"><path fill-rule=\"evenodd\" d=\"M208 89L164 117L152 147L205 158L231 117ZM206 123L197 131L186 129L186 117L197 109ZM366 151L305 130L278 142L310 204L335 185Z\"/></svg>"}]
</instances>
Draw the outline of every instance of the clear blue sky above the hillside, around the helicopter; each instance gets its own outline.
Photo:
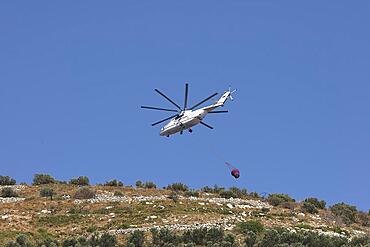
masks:
<instances>
[{"instance_id":1,"label":"clear blue sky above the hillside, around the helicopter","mask_svg":"<svg viewBox=\"0 0 370 247\"><path fill-rule=\"evenodd\" d=\"M218 184L370 208L369 1L2 1L0 174ZM139 109L230 84L169 139ZM223 164L241 170L234 180Z\"/></svg>"}]
</instances>

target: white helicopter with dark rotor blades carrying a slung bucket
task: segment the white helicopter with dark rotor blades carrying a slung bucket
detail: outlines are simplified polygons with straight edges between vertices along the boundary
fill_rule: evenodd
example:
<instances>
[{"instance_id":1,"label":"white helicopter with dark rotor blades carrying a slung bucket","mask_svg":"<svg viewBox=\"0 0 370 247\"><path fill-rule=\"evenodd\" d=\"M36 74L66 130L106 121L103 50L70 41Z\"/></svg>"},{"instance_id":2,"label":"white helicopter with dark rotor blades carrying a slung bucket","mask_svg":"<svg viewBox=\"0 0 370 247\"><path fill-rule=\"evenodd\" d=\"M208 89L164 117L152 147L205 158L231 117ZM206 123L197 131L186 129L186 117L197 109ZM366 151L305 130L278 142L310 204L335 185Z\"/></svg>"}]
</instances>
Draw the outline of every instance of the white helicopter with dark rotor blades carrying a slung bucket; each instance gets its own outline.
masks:
<instances>
[{"instance_id":1,"label":"white helicopter with dark rotor blades carrying a slung bucket","mask_svg":"<svg viewBox=\"0 0 370 247\"><path fill-rule=\"evenodd\" d=\"M152 126L155 126L157 124L160 124L160 123L163 123L167 120L170 120L171 121L166 124L163 128L161 128L161 131L160 131L160 135L161 136L167 136L167 137L170 137L170 135L173 135L173 134L176 134L178 132L180 132L180 134L182 135L184 130L189 130L190 133L193 132L193 130L191 129L193 126L197 125L197 124L202 124L210 129L213 129L212 126L204 123L202 120L205 118L205 116L208 114L208 113L226 113L228 112L227 110L225 111L214 111L216 108L220 107L220 106L224 106L226 100L228 98L230 98L231 100L233 100L232 98L232 94L236 91L231 91L231 89L229 88L228 91L224 92L224 94L221 96L221 98L214 104L212 105L209 105L209 106L206 106L206 107L203 107L203 108L200 108L198 110L195 110L195 108L197 108L198 106L202 105L203 103L207 102L208 100L212 99L214 96L216 96L218 93L214 93L212 94L211 96L209 96L208 98L202 100L201 102L199 102L198 104L190 107L190 108L187 108L187 104L188 104L188 92L189 92L189 84L186 83L185 84L185 102L184 102L184 107L181 108L178 104L176 104L173 100L171 100L169 97L167 97L164 93L162 93L161 91L159 91L158 89L155 89L155 91L157 93L159 93L161 96L163 96L165 99L167 99L169 102L171 102L174 106L176 106L176 108L178 110L175 110L175 109L167 109L167 108L159 108L159 107L152 107L152 106L141 106L141 108L143 109L151 109L151 110L159 110L159 111L168 111L168 112L176 112L175 115L173 116L170 116L166 119L163 119L161 121L158 121L158 122L155 122L152 124Z\"/></svg>"}]
</instances>

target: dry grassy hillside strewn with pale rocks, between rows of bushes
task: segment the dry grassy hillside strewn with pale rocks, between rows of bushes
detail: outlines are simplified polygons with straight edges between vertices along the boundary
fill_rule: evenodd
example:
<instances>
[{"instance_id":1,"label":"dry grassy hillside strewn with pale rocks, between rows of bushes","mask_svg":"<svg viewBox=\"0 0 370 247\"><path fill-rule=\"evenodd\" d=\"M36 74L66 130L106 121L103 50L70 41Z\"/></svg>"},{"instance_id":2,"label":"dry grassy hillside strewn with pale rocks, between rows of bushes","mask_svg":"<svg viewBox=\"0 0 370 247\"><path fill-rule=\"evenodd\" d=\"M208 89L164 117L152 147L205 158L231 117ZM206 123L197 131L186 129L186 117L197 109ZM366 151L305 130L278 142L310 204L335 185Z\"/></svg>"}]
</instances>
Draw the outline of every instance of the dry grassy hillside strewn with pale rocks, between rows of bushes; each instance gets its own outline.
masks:
<instances>
[{"instance_id":1,"label":"dry grassy hillside strewn with pale rocks, between rows of bushes","mask_svg":"<svg viewBox=\"0 0 370 247\"><path fill-rule=\"evenodd\" d=\"M243 227L248 228L251 222L261 222L265 229L347 240L370 236L367 213L358 212L353 222L347 222L345 215L335 214L325 205L313 210L305 203L289 200L275 203L276 198L271 196L260 198L235 188L208 188L213 193L206 193L207 189L190 191L181 184L168 189L96 185L84 186L83 190L89 190L82 194L81 186L60 183L0 186L4 188L11 188L18 197L0 198L1 244L21 233L33 242L109 233L124 243L135 230L149 233L152 228L173 232L220 228L235 237L235 246L245 246ZM41 190L46 197L40 196ZM45 193L48 190L52 193Z\"/></svg>"}]
</instances>

